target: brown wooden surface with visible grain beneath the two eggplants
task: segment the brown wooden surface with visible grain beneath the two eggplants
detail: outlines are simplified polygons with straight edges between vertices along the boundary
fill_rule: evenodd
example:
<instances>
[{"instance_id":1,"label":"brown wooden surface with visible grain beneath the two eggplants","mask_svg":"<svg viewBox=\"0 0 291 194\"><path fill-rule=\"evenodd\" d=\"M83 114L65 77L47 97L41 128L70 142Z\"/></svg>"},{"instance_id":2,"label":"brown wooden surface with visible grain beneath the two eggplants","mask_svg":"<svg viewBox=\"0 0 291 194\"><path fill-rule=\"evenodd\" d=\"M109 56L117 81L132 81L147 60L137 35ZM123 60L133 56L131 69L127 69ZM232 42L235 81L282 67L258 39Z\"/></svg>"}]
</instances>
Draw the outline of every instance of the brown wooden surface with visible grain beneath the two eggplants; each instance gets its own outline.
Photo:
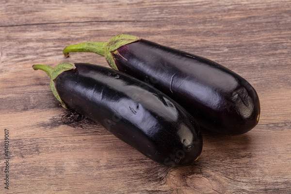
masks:
<instances>
[{"instance_id":1,"label":"brown wooden surface with visible grain beneath the two eggplants","mask_svg":"<svg viewBox=\"0 0 291 194\"><path fill-rule=\"evenodd\" d=\"M0 193L290 194L290 0L0 0ZM259 125L203 132L201 157L155 163L90 120L66 111L33 64L106 65L66 45L129 33L204 56L257 90ZM9 130L9 190L4 189Z\"/></svg>"}]
</instances>

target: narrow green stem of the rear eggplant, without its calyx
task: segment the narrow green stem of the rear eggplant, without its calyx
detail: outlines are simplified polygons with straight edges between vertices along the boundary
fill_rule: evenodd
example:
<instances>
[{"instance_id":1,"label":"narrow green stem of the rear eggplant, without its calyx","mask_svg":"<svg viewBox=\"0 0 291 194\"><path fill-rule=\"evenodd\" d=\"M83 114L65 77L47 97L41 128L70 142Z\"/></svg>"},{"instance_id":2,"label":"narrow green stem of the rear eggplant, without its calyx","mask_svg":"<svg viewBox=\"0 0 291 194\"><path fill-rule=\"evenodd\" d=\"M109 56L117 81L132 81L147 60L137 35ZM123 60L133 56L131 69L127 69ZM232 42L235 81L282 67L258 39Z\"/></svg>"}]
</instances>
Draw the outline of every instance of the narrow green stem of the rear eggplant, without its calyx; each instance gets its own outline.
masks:
<instances>
[{"instance_id":1,"label":"narrow green stem of the rear eggplant, without its calyx","mask_svg":"<svg viewBox=\"0 0 291 194\"><path fill-rule=\"evenodd\" d=\"M69 45L65 47L63 53L65 57L69 57L70 52L94 52L98 55L105 56L105 45L107 42L86 42L77 45Z\"/></svg>"}]
</instances>

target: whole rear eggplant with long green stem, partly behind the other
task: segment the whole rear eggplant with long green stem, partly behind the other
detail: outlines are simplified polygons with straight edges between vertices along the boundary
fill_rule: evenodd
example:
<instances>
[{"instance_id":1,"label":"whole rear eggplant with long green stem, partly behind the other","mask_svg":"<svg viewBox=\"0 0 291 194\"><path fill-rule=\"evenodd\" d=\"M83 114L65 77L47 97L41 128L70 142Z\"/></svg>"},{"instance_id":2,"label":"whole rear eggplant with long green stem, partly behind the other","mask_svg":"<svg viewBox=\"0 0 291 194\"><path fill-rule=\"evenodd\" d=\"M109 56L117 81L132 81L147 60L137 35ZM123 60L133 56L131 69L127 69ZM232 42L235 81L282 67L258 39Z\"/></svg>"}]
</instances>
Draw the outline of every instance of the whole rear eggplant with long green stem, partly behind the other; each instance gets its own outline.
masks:
<instances>
[{"instance_id":1,"label":"whole rear eggplant with long green stem, partly behind the other","mask_svg":"<svg viewBox=\"0 0 291 194\"><path fill-rule=\"evenodd\" d=\"M69 52L105 56L116 70L148 82L178 102L201 128L238 135L259 122L256 90L238 74L209 59L136 36L119 34L108 42L67 46Z\"/></svg>"}]
</instances>

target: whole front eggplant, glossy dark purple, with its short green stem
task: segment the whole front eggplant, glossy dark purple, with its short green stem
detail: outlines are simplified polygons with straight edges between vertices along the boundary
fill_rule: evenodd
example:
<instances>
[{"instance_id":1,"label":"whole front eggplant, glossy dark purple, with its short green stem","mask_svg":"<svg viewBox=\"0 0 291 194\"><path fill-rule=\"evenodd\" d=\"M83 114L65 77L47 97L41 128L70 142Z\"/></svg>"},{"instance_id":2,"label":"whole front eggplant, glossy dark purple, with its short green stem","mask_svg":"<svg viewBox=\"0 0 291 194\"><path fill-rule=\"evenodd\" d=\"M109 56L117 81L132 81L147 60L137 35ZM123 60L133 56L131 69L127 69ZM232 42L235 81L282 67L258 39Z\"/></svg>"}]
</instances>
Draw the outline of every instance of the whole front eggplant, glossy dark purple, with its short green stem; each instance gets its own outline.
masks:
<instances>
[{"instance_id":1,"label":"whole front eggplant, glossy dark purple, with its short green stem","mask_svg":"<svg viewBox=\"0 0 291 194\"><path fill-rule=\"evenodd\" d=\"M197 122L151 85L92 64L33 65L33 69L49 75L51 90L63 107L99 122L148 158L178 166L201 154Z\"/></svg>"}]
</instances>

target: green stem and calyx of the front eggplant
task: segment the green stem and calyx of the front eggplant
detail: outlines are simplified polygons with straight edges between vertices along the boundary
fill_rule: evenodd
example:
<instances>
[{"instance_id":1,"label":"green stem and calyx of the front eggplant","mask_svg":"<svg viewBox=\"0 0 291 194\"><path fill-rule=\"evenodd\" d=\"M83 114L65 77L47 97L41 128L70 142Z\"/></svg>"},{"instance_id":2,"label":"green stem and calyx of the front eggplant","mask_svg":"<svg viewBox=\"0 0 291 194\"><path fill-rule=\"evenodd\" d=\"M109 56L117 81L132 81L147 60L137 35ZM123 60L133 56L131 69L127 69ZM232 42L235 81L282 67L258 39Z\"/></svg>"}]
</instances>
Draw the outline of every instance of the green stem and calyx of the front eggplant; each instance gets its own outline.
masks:
<instances>
[{"instance_id":1,"label":"green stem and calyx of the front eggplant","mask_svg":"<svg viewBox=\"0 0 291 194\"><path fill-rule=\"evenodd\" d=\"M55 68L52 68L48 65L32 65L32 68L34 70L43 70L45 71L48 76L50 77L50 83L49 83L49 86L50 86L50 89L52 91L52 94L57 98L57 100L59 100L61 102L61 105L67 109L67 106L65 105L65 103L62 101L62 99L60 98L57 90L56 90L56 87L55 87L55 84L54 84L54 80L61 74L63 73L64 71L68 71L68 70L71 70L71 69L75 69L76 66L72 63L62 63L62 64L59 64L57 65Z\"/></svg>"}]
</instances>

